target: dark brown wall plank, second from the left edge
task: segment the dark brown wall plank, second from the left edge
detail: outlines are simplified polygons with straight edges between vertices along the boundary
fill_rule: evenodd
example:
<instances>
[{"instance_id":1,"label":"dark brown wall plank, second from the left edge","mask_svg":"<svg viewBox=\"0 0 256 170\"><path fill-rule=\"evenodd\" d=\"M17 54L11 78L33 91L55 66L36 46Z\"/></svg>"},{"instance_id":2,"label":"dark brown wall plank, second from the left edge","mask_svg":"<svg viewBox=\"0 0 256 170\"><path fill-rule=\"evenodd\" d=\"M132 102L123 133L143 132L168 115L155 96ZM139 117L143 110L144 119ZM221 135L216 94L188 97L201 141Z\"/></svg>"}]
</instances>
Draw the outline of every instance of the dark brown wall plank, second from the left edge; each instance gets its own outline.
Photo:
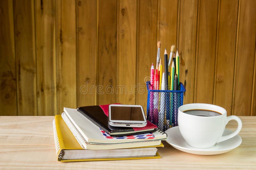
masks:
<instances>
[{"instance_id":1,"label":"dark brown wall plank, second from the left edge","mask_svg":"<svg viewBox=\"0 0 256 170\"><path fill-rule=\"evenodd\" d=\"M34 1L15 0L13 3L18 115L37 115Z\"/></svg>"}]
</instances>

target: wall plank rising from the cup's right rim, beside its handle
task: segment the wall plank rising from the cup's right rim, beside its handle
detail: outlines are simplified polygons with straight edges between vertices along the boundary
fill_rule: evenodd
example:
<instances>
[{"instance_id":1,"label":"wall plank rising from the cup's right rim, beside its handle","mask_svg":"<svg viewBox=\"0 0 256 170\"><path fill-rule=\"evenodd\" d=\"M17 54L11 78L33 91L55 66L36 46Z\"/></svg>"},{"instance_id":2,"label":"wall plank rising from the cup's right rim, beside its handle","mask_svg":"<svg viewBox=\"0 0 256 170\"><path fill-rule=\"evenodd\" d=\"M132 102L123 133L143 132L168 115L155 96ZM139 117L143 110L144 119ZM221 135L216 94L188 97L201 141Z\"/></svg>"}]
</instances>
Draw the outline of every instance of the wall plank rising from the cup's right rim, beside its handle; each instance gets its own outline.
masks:
<instances>
[{"instance_id":1,"label":"wall plank rising from the cup's right rim, beside its handle","mask_svg":"<svg viewBox=\"0 0 256 170\"><path fill-rule=\"evenodd\" d=\"M231 114L238 0L220 1L213 104Z\"/></svg>"}]
</instances>

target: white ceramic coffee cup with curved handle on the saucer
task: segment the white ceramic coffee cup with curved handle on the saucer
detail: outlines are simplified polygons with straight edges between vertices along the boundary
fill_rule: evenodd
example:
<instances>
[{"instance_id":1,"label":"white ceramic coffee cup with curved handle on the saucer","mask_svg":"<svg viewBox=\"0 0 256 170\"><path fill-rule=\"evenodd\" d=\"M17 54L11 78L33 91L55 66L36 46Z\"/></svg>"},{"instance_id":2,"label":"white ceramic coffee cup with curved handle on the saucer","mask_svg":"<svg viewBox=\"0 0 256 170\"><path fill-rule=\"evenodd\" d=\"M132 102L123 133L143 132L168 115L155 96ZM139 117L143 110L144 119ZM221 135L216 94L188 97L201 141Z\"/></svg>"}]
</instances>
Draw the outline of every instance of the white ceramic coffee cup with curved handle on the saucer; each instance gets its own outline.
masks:
<instances>
[{"instance_id":1,"label":"white ceramic coffee cup with curved handle on the saucer","mask_svg":"<svg viewBox=\"0 0 256 170\"><path fill-rule=\"evenodd\" d=\"M212 110L221 113L218 116L195 116L184 113L187 110ZM233 133L222 136L226 124L230 120L236 120L238 126ZM182 137L188 145L194 148L210 148L218 142L222 142L229 138L236 136L241 128L242 121L237 116L228 116L227 111L216 105L204 103L191 103L179 107L178 111L178 124Z\"/></svg>"}]
</instances>

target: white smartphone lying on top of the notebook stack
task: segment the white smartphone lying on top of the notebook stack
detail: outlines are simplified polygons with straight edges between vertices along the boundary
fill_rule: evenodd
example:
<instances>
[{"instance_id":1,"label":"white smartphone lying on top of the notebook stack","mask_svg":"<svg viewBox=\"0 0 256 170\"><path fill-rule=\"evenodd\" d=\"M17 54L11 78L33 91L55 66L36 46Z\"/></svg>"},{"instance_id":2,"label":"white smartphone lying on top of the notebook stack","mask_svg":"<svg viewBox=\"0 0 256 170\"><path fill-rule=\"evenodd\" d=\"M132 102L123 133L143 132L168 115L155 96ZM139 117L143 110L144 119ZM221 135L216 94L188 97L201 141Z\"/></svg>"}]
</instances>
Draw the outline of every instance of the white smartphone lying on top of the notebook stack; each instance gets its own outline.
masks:
<instances>
[{"instance_id":1,"label":"white smartphone lying on top of the notebook stack","mask_svg":"<svg viewBox=\"0 0 256 170\"><path fill-rule=\"evenodd\" d=\"M110 104L108 124L117 127L144 127L147 120L140 105Z\"/></svg>"}]
</instances>

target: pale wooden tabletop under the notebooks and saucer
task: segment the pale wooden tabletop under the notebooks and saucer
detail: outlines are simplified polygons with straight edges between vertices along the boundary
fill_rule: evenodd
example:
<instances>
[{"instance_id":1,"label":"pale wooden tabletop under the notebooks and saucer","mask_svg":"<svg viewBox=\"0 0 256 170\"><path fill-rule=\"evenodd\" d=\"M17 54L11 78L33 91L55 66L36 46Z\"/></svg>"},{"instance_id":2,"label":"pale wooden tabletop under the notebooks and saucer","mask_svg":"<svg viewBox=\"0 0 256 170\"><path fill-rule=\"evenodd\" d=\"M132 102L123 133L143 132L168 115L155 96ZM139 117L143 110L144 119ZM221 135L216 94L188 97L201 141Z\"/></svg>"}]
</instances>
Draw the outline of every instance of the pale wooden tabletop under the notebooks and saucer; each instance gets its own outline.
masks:
<instances>
[{"instance_id":1,"label":"pale wooden tabletop under the notebooks and saucer","mask_svg":"<svg viewBox=\"0 0 256 170\"><path fill-rule=\"evenodd\" d=\"M164 143L161 159L58 162L53 116L0 117L0 169L256 169L256 117L240 117L242 144L220 155L194 155ZM234 130L231 121L228 129Z\"/></svg>"}]
</instances>

